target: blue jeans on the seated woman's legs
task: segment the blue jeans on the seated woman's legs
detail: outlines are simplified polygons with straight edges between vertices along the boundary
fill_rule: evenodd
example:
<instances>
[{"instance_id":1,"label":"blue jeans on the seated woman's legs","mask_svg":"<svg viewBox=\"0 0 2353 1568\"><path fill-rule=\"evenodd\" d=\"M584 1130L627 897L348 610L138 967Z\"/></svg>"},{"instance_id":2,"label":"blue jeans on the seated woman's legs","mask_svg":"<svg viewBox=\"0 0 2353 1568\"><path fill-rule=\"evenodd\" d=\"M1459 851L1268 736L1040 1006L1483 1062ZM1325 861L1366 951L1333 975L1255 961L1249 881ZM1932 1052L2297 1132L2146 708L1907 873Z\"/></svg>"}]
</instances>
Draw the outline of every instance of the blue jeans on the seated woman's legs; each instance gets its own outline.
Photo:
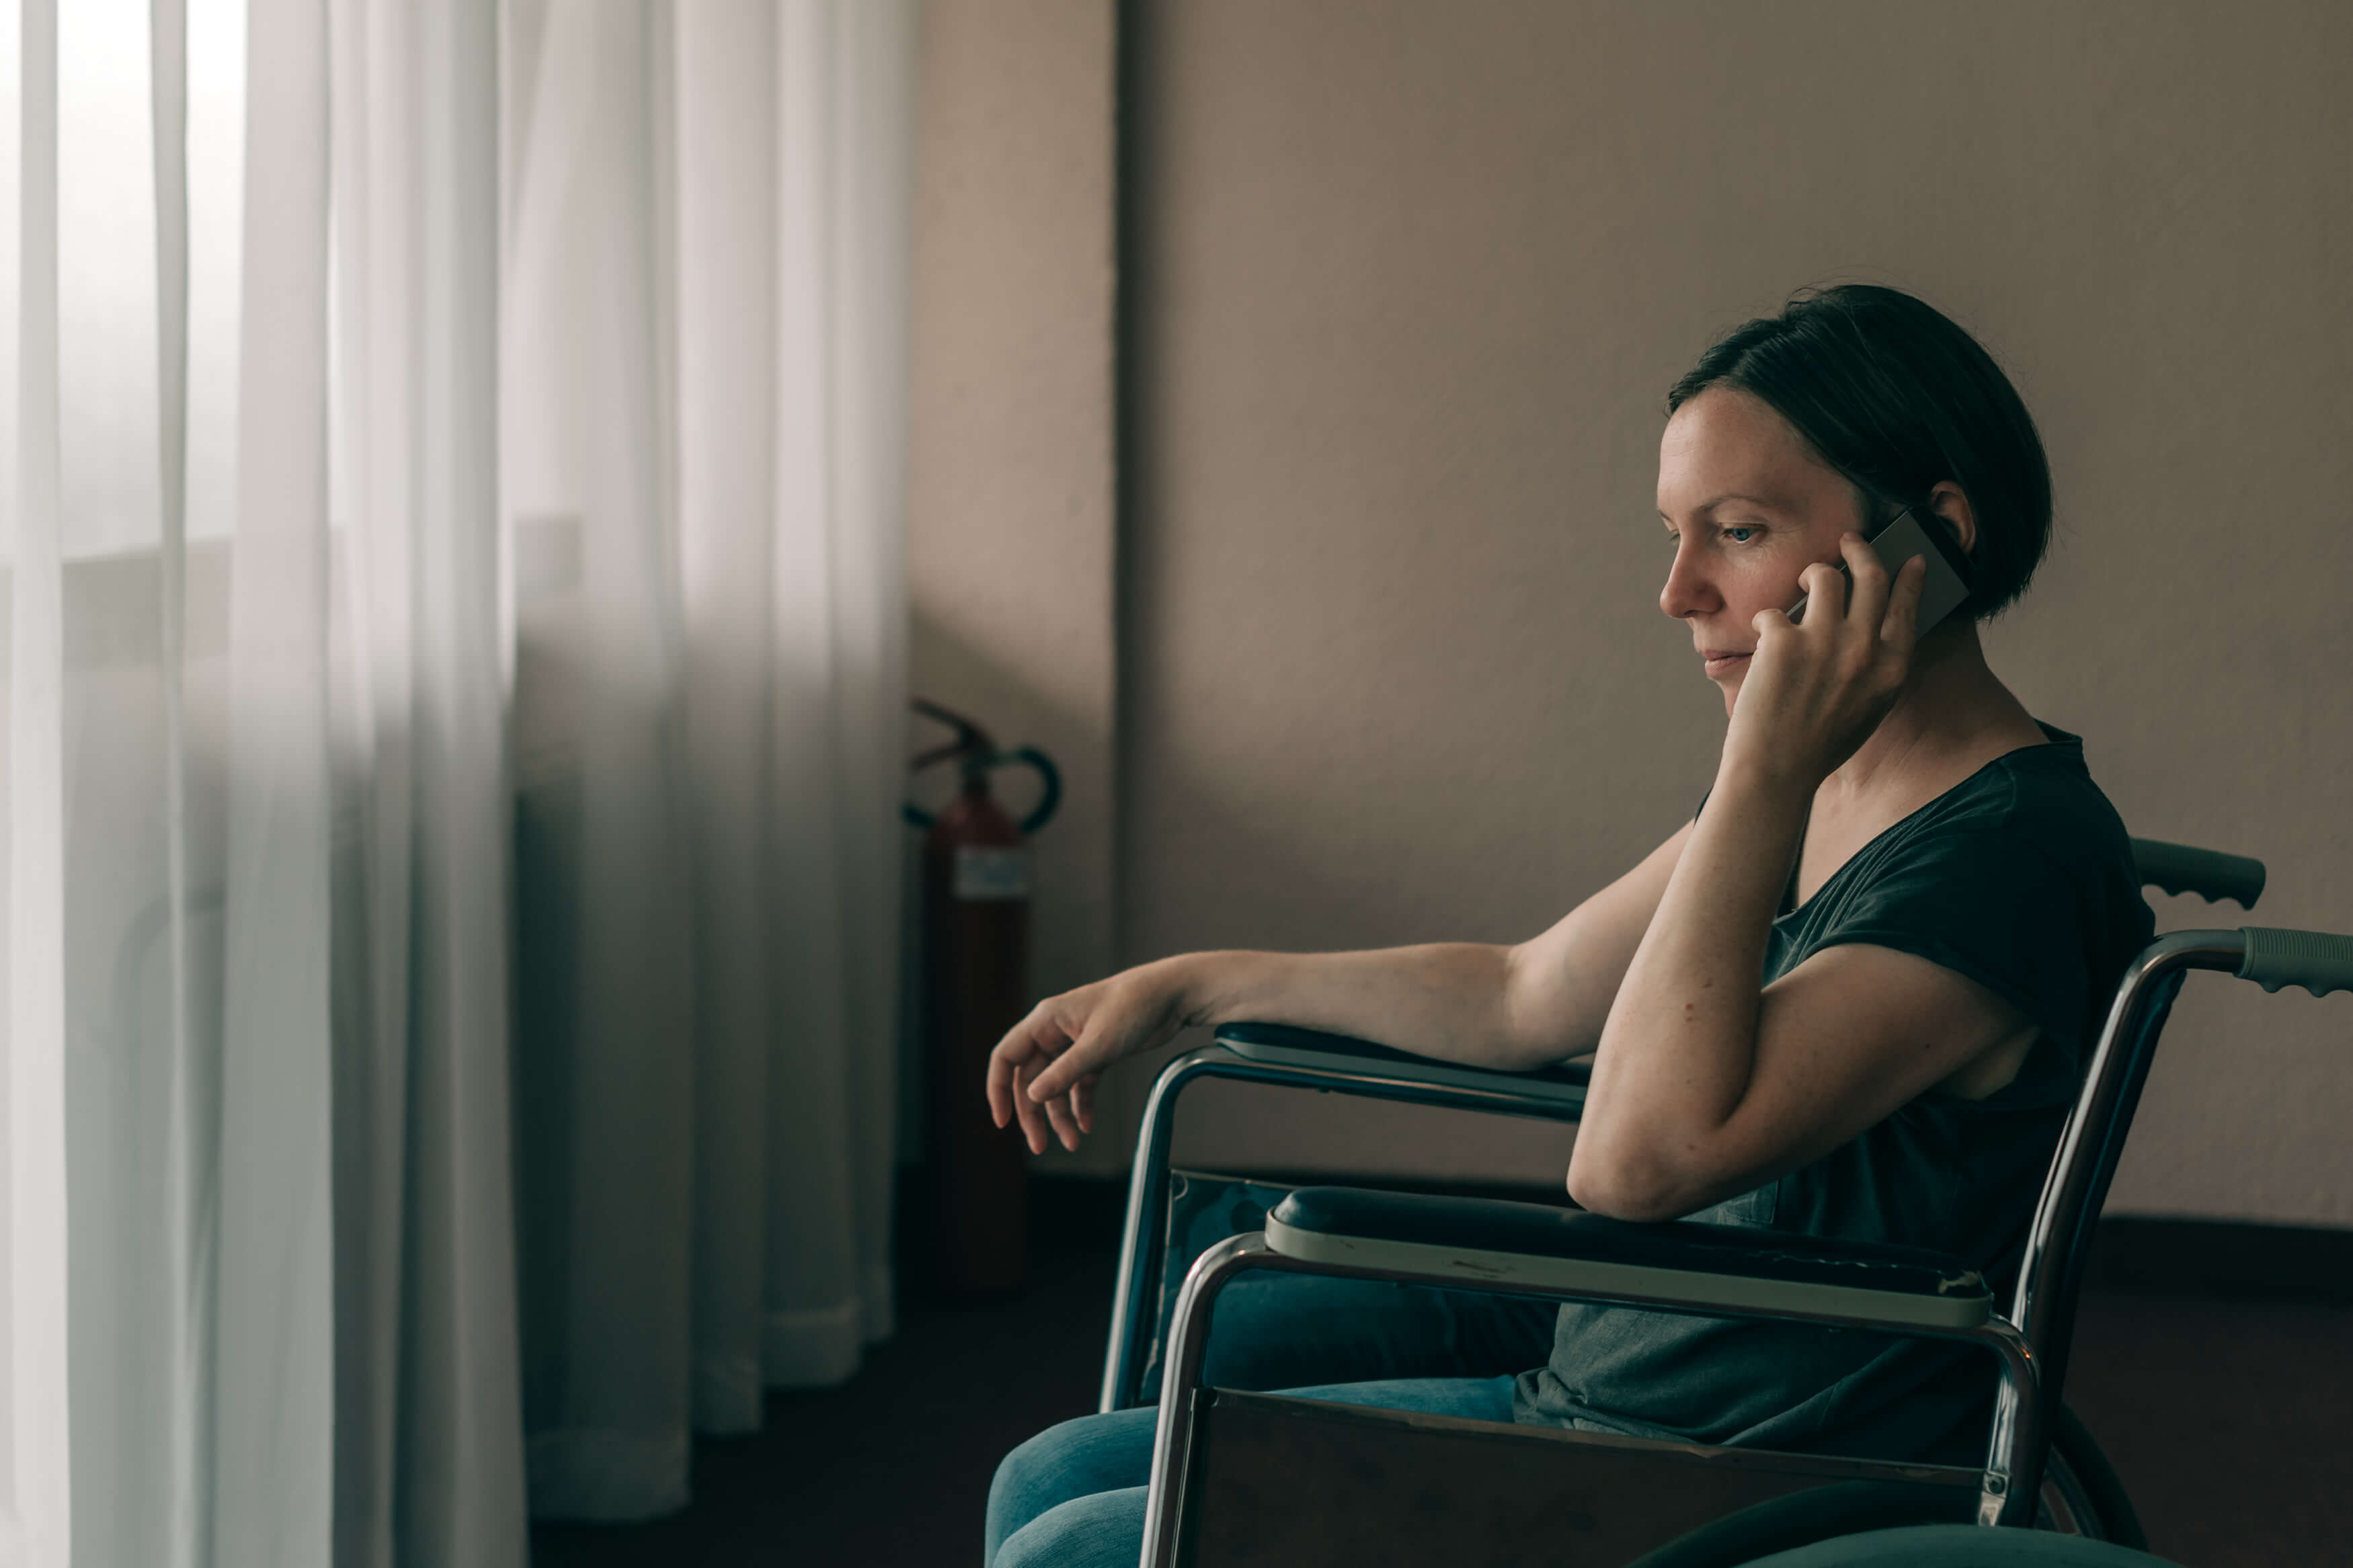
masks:
<instances>
[{"instance_id":1,"label":"blue jeans on the seated woman's legs","mask_svg":"<svg viewBox=\"0 0 2353 1568\"><path fill-rule=\"evenodd\" d=\"M1217 1298L1205 1382L1511 1420L1511 1375L1553 1347L1553 1302L1318 1274L1245 1274ZM1329 1378L1329 1382L1315 1382ZM988 1568L1134 1568L1158 1410L1080 1415L1005 1455Z\"/></svg>"}]
</instances>

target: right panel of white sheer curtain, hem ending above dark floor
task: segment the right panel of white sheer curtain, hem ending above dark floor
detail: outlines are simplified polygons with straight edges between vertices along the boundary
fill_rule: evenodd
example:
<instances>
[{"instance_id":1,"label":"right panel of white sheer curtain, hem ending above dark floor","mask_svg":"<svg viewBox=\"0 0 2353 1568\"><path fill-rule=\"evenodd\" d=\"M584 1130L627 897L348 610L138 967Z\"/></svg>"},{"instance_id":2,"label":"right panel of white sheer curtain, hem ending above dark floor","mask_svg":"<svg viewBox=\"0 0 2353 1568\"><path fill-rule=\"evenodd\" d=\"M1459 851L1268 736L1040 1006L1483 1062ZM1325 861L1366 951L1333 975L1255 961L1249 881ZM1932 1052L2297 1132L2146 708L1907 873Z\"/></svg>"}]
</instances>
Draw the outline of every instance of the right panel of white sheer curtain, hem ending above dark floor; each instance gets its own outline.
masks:
<instances>
[{"instance_id":1,"label":"right panel of white sheer curtain, hem ending above dark floor","mask_svg":"<svg viewBox=\"0 0 2353 1568\"><path fill-rule=\"evenodd\" d=\"M889 1331L913 7L511 9L532 1507Z\"/></svg>"}]
</instances>

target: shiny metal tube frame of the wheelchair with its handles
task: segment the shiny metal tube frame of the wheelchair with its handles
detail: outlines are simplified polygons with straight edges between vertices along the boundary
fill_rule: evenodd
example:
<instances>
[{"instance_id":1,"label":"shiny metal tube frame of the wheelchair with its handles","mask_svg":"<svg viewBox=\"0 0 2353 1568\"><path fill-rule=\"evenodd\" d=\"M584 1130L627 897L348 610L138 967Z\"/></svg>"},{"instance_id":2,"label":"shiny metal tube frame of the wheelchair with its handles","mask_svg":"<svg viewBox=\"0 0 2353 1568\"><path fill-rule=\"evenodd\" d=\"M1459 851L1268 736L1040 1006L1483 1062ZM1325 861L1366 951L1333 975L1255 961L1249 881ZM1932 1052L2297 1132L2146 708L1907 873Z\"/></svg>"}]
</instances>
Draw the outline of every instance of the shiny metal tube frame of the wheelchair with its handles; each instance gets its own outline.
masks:
<instances>
[{"instance_id":1,"label":"shiny metal tube frame of the wheelchair with its handles","mask_svg":"<svg viewBox=\"0 0 2353 1568\"><path fill-rule=\"evenodd\" d=\"M2153 839L2134 839L2144 886L2198 891L2214 900L2235 898L2252 907L2264 886L2264 867L2238 856L2219 856ZM2301 947L2299 947L2301 943ZM2337 943L2322 952L2318 945ZM2132 1110L2139 1103L2158 1034L2172 1011L2174 994L2191 969L2224 969L2257 978L2266 990L2301 983L2322 992L2353 985L2353 940L2322 933L2278 933L2266 929L2177 931L2158 938L2129 966L2120 983L2085 1086L2064 1124L2052 1173L2028 1232L2017 1295L2007 1319L1988 1312L1969 1328L1929 1328L1885 1316L1845 1312L1760 1309L1725 1300L1722 1291L1699 1286L1680 1295L1617 1293L1593 1288L1527 1286L1478 1281L1461 1272L1428 1267L1348 1267L1287 1255L1268 1232L1233 1237L1205 1253L1179 1295L1162 1373L1160 1422L1153 1458L1153 1493L1146 1514L1146 1566L1174 1561L1176 1519L1186 1455L1191 1450L1193 1399L1200 1389L1200 1359L1217 1293L1247 1269L1320 1272L1365 1279L1393 1279L1447 1288L1501 1288L1551 1300L1602 1300L1657 1309L1701 1312L1711 1316L1765 1316L1817 1321L1849 1328L1918 1333L1925 1338L1969 1340L1991 1349L2002 1368L1988 1458L1979 1486L1979 1523L2033 1523L2047 1450L2047 1410L2059 1396L2066 1345L2073 1331L2075 1295L2082 1281L2089 1229L2106 1197ZM2313 964L2320 964L2315 971ZM2297 969L2301 964L2301 971ZM2329 964L2346 969L2329 971ZM2334 985L2332 978L2334 976ZM1271 1051L1268 1051L1271 1048ZM1268 1056L1257 1056L1266 1051ZM1282 1084L1360 1093L1369 1098L1485 1110L1497 1114L1574 1121L1581 1110L1577 1070L1553 1070L1544 1095L1527 1093L1522 1074L1464 1070L1452 1065L1419 1067L1421 1058L1393 1053L1362 1041L1346 1041L1308 1030L1278 1025L1231 1025L1217 1044L1174 1063L1153 1084L1146 1105L1144 1135L1129 1178L1129 1213L1120 1248L1120 1272L1113 1298L1113 1331L1106 1352L1101 1408L1134 1403L1146 1342L1139 1333L1158 1300L1155 1267L1148 1255L1151 1227L1167 1213L1169 1143L1181 1091L1202 1077ZM1435 1070L1435 1072L1433 1072ZM1708 1279L1708 1276L1692 1276ZM1882 1462L1854 1462L1857 1474L1889 1474Z\"/></svg>"}]
</instances>

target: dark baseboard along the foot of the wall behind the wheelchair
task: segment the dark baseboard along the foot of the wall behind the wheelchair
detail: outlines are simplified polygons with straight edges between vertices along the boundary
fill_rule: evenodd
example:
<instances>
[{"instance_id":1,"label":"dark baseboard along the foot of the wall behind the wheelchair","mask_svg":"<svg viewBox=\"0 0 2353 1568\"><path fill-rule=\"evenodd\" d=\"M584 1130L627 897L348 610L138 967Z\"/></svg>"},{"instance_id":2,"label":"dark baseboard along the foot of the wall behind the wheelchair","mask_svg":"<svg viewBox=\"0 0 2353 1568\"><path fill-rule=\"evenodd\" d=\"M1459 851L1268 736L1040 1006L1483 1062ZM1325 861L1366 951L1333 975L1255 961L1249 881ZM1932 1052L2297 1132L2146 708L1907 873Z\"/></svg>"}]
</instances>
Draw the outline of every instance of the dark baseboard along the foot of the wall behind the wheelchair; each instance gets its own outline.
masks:
<instances>
[{"instance_id":1,"label":"dark baseboard along the foot of the wall behind the wheelchair","mask_svg":"<svg viewBox=\"0 0 2353 1568\"><path fill-rule=\"evenodd\" d=\"M1525 1182L1424 1182L1332 1171L1252 1173L1297 1187L1391 1187L1567 1206L1567 1192ZM1127 1182L1092 1175L1033 1175L1035 1234L1118 1246ZM2092 1239L2085 1291L2113 1295L2231 1295L2353 1305L2353 1229L2108 1215Z\"/></svg>"}]
</instances>

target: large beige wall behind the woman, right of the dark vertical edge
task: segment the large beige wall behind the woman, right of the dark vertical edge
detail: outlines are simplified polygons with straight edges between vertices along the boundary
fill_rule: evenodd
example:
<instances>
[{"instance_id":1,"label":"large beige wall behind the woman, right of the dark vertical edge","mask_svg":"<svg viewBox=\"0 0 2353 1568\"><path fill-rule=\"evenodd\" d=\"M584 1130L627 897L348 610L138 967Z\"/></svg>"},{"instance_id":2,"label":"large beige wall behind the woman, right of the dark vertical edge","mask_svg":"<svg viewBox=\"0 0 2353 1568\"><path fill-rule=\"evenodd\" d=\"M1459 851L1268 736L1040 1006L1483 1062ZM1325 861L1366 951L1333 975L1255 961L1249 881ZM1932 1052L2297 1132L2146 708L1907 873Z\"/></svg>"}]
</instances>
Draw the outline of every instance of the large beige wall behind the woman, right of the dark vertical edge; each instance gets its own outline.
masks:
<instances>
[{"instance_id":1,"label":"large beige wall behind the woman, right of the dark vertical edge","mask_svg":"<svg viewBox=\"0 0 2353 1568\"><path fill-rule=\"evenodd\" d=\"M2353 929L2353 7L1139 9L1122 961L1513 940L1689 816L1722 708L1657 609L1659 400L1849 277L1979 331L2042 423L2059 536L1995 670L2134 832L2266 858L2266 924ZM974 430L976 482L1021 440ZM995 520L974 548L1049 555ZM958 656L1007 668L995 614ZM1565 1161L1551 1128L1198 1110L1202 1164ZM2353 1222L2348 1126L2353 1001L2202 978L2115 1206Z\"/></svg>"}]
</instances>

